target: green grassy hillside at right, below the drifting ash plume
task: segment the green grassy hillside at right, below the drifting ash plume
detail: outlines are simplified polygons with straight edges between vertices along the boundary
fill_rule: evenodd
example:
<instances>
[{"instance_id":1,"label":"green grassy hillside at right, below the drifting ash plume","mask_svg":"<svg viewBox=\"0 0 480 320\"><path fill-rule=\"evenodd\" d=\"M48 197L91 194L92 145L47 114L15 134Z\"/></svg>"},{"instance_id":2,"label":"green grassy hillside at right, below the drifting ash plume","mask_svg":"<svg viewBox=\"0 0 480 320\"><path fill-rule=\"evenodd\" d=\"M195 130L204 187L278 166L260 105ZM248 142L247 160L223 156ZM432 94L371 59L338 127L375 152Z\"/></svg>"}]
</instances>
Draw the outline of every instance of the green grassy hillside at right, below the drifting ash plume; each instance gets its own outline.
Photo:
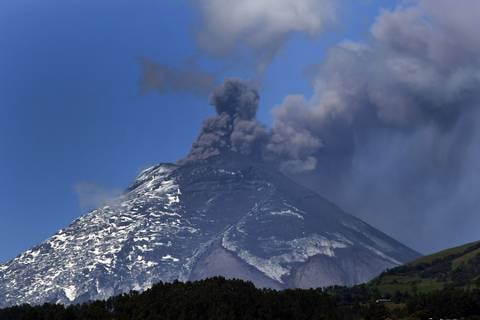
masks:
<instances>
[{"instance_id":1,"label":"green grassy hillside at right, below the drifting ash plume","mask_svg":"<svg viewBox=\"0 0 480 320\"><path fill-rule=\"evenodd\" d=\"M480 288L480 241L440 251L388 270L369 286L381 293Z\"/></svg>"}]
</instances>

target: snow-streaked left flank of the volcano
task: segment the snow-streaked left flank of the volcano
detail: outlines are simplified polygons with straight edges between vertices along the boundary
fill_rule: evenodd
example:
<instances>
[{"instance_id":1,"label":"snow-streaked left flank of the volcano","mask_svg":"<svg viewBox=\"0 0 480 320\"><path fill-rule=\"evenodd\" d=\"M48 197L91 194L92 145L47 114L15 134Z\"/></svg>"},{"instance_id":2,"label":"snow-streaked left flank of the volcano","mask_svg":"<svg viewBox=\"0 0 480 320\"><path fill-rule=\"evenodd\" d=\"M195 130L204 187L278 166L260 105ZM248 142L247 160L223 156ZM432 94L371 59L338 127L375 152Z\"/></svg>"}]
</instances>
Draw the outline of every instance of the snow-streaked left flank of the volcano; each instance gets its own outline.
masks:
<instances>
[{"instance_id":1,"label":"snow-streaked left flank of the volcano","mask_svg":"<svg viewBox=\"0 0 480 320\"><path fill-rule=\"evenodd\" d=\"M117 281L132 277L129 286L135 289L149 287L158 274L164 280L180 278L186 261L176 257L178 247L198 229L181 216L181 191L172 171L171 166L144 171L136 187L115 203L80 217L3 266L0 292L6 304L108 297L118 290L102 275Z\"/></svg>"}]
</instances>

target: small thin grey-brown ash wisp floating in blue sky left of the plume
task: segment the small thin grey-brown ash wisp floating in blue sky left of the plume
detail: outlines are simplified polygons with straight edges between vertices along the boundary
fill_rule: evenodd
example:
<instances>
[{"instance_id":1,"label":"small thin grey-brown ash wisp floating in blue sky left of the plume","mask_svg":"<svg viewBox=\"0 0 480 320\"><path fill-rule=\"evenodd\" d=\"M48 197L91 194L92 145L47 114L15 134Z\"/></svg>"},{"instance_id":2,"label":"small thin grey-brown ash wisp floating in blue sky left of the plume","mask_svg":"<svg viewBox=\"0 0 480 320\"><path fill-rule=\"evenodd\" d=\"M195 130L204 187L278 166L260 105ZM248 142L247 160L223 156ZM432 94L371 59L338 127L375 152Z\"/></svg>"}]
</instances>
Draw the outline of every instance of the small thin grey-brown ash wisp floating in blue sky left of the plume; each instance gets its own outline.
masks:
<instances>
[{"instance_id":1,"label":"small thin grey-brown ash wisp floating in blue sky left of the plume","mask_svg":"<svg viewBox=\"0 0 480 320\"><path fill-rule=\"evenodd\" d=\"M140 92L193 93L207 95L215 88L216 76L200 70L195 64L172 68L147 58L139 59Z\"/></svg>"}]
</instances>

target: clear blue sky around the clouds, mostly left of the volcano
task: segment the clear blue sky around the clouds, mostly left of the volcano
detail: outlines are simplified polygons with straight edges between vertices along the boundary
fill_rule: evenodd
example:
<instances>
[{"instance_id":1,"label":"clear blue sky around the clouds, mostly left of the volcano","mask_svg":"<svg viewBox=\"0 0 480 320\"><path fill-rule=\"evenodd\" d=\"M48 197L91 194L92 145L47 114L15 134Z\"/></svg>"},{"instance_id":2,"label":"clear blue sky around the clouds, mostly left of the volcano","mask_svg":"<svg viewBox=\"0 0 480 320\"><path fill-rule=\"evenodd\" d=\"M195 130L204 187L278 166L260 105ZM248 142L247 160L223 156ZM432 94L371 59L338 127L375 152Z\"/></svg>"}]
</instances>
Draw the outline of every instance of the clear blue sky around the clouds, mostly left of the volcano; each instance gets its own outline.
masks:
<instances>
[{"instance_id":1,"label":"clear blue sky around the clouds, mostly left of the volcano","mask_svg":"<svg viewBox=\"0 0 480 320\"><path fill-rule=\"evenodd\" d=\"M382 7L346 1L335 27L296 35L269 65L259 118L291 93L311 91L306 67L343 39L368 37ZM198 57L220 78L253 70L197 47L194 8L178 0L0 2L0 261L43 241L88 208L74 186L123 189L148 165L188 151L207 97L139 94L137 59L181 65ZM186 120L185 120L186 119Z\"/></svg>"}]
</instances>

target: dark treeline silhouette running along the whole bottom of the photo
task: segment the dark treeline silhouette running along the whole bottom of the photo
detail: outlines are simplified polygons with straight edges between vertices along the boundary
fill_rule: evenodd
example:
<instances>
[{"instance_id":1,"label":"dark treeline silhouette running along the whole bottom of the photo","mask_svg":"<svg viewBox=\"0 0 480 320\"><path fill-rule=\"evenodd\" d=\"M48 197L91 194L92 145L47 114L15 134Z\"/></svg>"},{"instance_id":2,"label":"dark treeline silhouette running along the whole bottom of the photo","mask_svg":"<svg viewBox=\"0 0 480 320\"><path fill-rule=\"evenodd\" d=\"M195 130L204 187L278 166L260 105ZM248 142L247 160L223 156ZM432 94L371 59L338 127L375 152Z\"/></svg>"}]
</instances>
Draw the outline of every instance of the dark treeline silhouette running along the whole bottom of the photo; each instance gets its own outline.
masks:
<instances>
[{"instance_id":1,"label":"dark treeline silhouette running along the whole bottom of the photo","mask_svg":"<svg viewBox=\"0 0 480 320\"><path fill-rule=\"evenodd\" d=\"M466 318L480 320L480 291L443 290L388 302L368 286L284 290L257 289L221 277L159 283L81 305L22 305L0 310L0 320L376 320ZM478 316L475 318L475 316Z\"/></svg>"}]
</instances>

